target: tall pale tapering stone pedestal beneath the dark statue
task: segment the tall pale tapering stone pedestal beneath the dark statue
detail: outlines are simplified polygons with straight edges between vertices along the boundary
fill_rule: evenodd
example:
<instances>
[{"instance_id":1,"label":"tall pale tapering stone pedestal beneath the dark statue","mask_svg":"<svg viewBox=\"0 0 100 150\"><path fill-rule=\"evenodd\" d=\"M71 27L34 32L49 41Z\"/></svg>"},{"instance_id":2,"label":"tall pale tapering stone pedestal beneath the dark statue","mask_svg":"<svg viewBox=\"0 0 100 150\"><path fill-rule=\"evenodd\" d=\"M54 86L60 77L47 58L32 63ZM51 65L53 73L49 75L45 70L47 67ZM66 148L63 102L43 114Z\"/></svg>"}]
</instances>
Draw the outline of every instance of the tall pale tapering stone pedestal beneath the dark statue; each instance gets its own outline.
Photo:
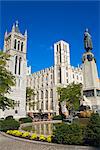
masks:
<instances>
[{"instance_id":1,"label":"tall pale tapering stone pedestal beneath the dark statue","mask_svg":"<svg viewBox=\"0 0 100 150\"><path fill-rule=\"evenodd\" d=\"M91 109L100 109L100 82L94 55L89 51L83 54L83 95ZM85 99L84 99L85 101Z\"/></svg>"}]
</instances>

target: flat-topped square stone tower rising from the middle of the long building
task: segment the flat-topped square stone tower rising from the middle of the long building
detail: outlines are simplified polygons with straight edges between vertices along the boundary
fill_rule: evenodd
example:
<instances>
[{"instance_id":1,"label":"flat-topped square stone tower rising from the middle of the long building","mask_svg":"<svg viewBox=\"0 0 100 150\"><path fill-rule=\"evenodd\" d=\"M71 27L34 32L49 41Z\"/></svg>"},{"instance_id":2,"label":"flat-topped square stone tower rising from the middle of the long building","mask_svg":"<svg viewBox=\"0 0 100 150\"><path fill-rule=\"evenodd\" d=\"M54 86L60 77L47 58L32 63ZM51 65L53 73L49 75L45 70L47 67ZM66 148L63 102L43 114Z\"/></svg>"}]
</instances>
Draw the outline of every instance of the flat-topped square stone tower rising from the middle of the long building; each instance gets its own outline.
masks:
<instances>
[{"instance_id":1,"label":"flat-topped square stone tower rising from the middle of the long building","mask_svg":"<svg viewBox=\"0 0 100 150\"><path fill-rule=\"evenodd\" d=\"M54 44L55 84L66 83L66 68L70 67L69 44L59 41Z\"/></svg>"}]
</instances>

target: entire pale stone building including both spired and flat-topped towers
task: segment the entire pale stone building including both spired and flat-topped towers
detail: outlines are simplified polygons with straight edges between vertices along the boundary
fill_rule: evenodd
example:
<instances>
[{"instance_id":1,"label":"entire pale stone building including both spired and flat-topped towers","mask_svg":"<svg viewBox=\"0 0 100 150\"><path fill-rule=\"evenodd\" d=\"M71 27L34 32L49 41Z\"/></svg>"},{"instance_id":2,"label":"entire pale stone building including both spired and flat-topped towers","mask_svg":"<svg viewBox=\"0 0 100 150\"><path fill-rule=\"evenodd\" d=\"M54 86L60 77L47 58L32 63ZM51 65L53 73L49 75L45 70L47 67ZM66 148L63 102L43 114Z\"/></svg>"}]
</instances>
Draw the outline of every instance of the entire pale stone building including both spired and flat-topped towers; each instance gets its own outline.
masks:
<instances>
[{"instance_id":1,"label":"entire pale stone building including both spired and flat-topped towers","mask_svg":"<svg viewBox=\"0 0 100 150\"><path fill-rule=\"evenodd\" d=\"M58 115L57 87L66 87L72 82L83 84L82 66L71 66L69 44L63 40L54 43L54 65L35 73L27 66L27 31L22 34L18 22L12 26L10 33L5 32L3 51L11 56L7 68L16 78L16 86L12 87L7 96L16 105L14 109L0 110L0 117L13 115L19 118L27 114L34 116L40 112ZM27 87L34 89L35 96L26 103Z\"/></svg>"}]
</instances>

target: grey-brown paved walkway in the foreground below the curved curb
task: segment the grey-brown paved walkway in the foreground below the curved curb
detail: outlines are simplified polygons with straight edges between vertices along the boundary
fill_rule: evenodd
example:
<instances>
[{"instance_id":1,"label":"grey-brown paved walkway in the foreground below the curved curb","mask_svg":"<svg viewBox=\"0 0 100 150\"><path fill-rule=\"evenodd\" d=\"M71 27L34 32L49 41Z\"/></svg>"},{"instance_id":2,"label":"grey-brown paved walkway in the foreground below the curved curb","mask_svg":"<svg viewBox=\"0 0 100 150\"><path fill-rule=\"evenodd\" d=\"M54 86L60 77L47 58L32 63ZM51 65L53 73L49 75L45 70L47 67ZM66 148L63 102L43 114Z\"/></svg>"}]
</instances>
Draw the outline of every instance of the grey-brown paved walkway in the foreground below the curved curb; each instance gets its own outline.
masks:
<instances>
[{"instance_id":1,"label":"grey-brown paved walkway in the foreground below the curved curb","mask_svg":"<svg viewBox=\"0 0 100 150\"><path fill-rule=\"evenodd\" d=\"M58 145L41 142L27 142L18 138L0 134L0 150L95 150L84 146Z\"/></svg>"}]
</instances>

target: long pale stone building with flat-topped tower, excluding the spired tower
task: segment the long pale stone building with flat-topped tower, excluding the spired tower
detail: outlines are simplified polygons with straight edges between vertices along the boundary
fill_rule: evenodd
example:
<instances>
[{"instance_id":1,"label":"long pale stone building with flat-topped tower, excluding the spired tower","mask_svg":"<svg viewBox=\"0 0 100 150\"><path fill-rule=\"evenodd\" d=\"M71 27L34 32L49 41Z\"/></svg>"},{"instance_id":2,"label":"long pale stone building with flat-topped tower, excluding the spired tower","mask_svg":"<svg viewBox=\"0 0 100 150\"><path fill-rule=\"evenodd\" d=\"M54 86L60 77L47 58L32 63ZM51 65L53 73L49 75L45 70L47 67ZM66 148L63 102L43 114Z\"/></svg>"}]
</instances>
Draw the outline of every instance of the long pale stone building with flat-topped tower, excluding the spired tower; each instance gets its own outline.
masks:
<instances>
[{"instance_id":1,"label":"long pale stone building with flat-topped tower, excluding the spired tower","mask_svg":"<svg viewBox=\"0 0 100 150\"><path fill-rule=\"evenodd\" d=\"M27 76L27 87L36 94L27 103L27 113L59 114L57 87L72 82L83 83L82 69L71 66L69 44L61 40L54 44L54 66Z\"/></svg>"}]
</instances>

